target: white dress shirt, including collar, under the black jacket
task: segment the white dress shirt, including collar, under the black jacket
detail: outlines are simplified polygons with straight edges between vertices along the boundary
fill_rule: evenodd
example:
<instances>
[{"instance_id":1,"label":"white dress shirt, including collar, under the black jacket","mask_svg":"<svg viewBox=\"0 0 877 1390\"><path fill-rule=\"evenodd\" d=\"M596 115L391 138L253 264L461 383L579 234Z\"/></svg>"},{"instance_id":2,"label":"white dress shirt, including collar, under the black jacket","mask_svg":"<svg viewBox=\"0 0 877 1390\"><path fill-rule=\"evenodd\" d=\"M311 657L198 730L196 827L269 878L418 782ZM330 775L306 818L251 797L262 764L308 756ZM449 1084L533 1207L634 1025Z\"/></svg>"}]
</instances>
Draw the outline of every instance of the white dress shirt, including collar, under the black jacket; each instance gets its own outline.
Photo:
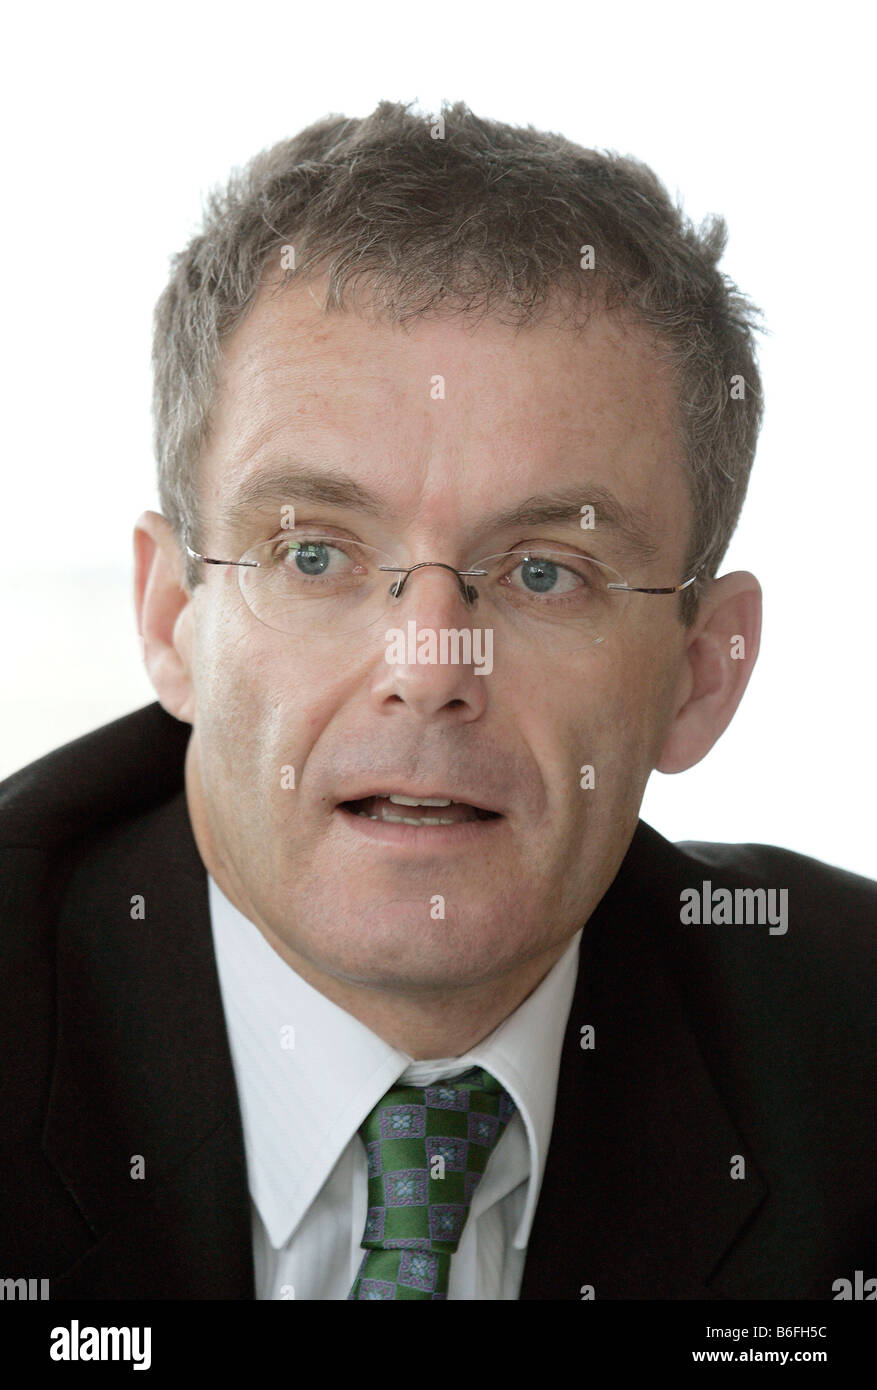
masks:
<instances>
[{"instance_id":1,"label":"white dress shirt, including collar, under the black jacket","mask_svg":"<svg viewBox=\"0 0 877 1390\"><path fill-rule=\"evenodd\" d=\"M416 1062L307 984L210 874L208 891L243 1122L256 1297L347 1297L368 1205L359 1126L397 1081L428 1086L484 1066L517 1112L475 1188L448 1297L518 1298L581 930L489 1037L464 1056Z\"/></svg>"}]
</instances>

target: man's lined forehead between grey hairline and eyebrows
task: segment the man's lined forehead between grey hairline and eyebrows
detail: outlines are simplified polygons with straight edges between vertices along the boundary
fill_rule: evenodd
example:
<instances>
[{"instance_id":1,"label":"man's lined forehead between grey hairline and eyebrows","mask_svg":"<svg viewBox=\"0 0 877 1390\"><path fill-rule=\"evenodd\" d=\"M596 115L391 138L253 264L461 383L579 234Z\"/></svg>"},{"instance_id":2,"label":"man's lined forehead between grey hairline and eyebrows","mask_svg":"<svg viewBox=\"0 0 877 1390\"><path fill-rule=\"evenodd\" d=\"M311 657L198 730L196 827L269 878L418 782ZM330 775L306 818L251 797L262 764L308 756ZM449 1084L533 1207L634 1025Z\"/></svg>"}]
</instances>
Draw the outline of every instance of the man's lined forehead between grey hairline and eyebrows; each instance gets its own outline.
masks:
<instances>
[{"instance_id":1,"label":"man's lined forehead between grey hairline and eyebrows","mask_svg":"<svg viewBox=\"0 0 877 1390\"><path fill-rule=\"evenodd\" d=\"M202 461L206 520L284 463L343 470L388 517L475 524L499 500L605 486L682 549L688 485L670 368L638 325L595 313L391 324L324 313L322 282L264 285L225 341ZM295 500L295 499L289 499ZM678 541L678 546L677 542Z\"/></svg>"}]
</instances>

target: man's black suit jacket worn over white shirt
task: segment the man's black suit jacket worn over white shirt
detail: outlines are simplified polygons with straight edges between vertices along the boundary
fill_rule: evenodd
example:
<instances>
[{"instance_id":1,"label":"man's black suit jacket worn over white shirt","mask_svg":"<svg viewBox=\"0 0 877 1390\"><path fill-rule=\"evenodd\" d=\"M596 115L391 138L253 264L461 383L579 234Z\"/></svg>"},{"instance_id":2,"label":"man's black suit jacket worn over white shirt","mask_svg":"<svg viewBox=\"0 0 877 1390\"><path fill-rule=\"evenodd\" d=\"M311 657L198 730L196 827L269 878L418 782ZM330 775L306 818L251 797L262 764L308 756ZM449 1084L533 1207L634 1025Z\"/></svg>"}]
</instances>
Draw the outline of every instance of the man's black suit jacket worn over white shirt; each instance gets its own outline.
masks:
<instances>
[{"instance_id":1,"label":"man's black suit jacket worn over white shirt","mask_svg":"<svg viewBox=\"0 0 877 1390\"><path fill-rule=\"evenodd\" d=\"M0 785L0 1276L51 1298L254 1295L188 738L154 703ZM787 934L684 926L703 880L788 888ZM521 1298L877 1276L876 926L870 880L639 821L582 933Z\"/></svg>"}]
</instances>

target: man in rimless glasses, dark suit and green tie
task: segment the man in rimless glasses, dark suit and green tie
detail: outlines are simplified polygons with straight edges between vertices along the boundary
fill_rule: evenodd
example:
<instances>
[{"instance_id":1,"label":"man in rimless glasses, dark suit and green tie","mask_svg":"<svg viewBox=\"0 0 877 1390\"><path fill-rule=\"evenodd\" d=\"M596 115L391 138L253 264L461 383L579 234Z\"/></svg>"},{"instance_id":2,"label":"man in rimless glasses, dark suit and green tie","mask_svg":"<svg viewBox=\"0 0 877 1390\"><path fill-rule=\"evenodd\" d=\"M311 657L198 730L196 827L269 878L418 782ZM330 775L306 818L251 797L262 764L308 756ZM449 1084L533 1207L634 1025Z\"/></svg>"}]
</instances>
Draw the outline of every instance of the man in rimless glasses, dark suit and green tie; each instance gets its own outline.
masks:
<instances>
[{"instance_id":1,"label":"man in rimless glasses, dark suit and green tie","mask_svg":"<svg viewBox=\"0 0 877 1390\"><path fill-rule=\"evenodd\" d=\"M157 703L3 787L4 1268L54 1298L877 1276L877 888L673 845L757 655L756 311L644 165L381 103L156 313Z\"/></svg>"}]
</instances>

